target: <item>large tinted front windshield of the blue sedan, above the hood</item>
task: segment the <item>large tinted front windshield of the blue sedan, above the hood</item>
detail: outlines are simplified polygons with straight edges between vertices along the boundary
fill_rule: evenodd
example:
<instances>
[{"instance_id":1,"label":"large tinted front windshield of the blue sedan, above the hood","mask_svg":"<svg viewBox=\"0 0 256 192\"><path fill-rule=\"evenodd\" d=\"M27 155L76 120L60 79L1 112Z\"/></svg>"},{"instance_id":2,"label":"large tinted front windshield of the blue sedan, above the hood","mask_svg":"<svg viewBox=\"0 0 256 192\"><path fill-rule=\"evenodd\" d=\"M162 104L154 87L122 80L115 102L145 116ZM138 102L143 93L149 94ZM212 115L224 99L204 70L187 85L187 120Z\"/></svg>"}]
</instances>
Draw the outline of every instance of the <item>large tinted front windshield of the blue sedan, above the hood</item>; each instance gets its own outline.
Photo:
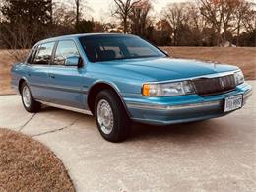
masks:
<instances>
[{"instance_id":1,"label":"large tinted front windshield of the blue sedan, above the hood","mask_svg":"<svg viewBox=\"0 0 256 192\"><path fill-rule=\"evenodd\" d=\"M166 56L137 36L84 36L80 41L91 62Z\"/></svg>"}]
</instances>

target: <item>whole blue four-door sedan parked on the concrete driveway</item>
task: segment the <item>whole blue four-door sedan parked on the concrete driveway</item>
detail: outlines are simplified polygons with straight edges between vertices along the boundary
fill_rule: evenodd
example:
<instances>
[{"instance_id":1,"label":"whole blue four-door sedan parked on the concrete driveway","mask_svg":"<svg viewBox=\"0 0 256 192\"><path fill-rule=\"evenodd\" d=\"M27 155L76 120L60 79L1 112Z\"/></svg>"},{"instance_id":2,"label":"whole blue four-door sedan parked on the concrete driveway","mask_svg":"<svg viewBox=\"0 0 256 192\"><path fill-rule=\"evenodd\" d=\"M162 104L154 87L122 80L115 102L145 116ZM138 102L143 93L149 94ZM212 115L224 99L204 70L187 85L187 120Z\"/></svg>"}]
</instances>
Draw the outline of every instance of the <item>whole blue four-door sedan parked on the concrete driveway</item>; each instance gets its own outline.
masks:
<instances>
[{"instance_id":1,"label":"whole blue four-door sedan parked on the concrete driveway","mask_svg":"<svg viewBox=\"0 0 256 192\"><path fill-rule=\"evenodd\" d=\"M93 114L111 142L126 139L132 121L169 125L224 116L242 108L252 91L235 66L173 59L125 34L42 40L11 71L28 112L46 104Z\"/></svg>"}]
</instances>

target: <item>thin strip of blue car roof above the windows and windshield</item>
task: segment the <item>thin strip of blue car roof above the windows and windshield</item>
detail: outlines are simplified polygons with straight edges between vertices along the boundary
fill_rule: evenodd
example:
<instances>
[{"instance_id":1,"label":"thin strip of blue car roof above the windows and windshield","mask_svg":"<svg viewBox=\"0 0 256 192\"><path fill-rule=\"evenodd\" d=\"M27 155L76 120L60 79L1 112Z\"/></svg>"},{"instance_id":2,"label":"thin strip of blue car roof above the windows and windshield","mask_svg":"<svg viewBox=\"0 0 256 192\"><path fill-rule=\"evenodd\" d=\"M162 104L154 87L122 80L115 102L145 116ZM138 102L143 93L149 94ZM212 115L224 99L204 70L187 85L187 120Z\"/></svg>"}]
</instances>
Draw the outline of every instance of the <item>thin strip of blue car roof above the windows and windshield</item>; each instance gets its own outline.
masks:
<instances>
[{"instance_id":1,"label":"thin strip of blue car roof above the windows and windshield","mask_svg":"<svg viewBox=\"0 0 256 192\"><path fill-rule=\"evenodd\" d=\"M132 34L123 34L123 33L81 33L81 34L69 34L63 36L57 36L52 38L47 38L37 42L36 44L51 42L51 41L58 41L58 40L66 40L66 39L77 39L80 37L96 37L96 36L134 36Z\"/></svg>"}]
</instances>

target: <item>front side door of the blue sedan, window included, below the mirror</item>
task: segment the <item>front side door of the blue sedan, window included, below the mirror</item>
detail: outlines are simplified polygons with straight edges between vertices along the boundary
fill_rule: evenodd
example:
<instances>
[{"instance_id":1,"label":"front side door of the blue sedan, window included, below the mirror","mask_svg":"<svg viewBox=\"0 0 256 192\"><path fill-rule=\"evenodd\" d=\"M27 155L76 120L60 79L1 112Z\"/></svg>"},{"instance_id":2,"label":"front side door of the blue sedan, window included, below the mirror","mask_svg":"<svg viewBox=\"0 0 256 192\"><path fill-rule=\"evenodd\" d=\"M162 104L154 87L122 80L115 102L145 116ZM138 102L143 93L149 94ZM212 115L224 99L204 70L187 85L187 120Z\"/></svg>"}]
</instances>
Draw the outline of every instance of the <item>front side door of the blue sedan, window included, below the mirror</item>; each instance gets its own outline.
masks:
<instances>
[{"instance_id":1,"label":"front side door of the blue sedan, window included, below the mirror","mask_svg":"<svg viewBox=\"0 0 256 192\"><path fill-rule=\"evenodd\" d=\"M73 40L59 41L48 70L50 101L85 108L85 93L82 91L84 69L65 65L66 58L72 56L80 56L76 43Z\"/></svg>"}]
</instances>

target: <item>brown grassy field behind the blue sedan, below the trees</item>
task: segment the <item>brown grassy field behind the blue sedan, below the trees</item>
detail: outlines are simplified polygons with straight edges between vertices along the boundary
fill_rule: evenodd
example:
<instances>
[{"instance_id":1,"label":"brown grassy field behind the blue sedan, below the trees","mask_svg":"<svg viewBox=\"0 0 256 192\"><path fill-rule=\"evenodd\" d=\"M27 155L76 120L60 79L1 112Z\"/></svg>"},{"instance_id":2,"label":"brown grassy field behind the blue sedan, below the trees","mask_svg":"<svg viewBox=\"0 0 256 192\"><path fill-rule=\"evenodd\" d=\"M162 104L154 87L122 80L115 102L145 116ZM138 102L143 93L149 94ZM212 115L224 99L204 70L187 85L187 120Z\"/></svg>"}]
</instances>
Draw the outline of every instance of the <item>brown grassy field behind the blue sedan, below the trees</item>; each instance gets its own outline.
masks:
<instances>
[{"instance_id":1,"label":"brown grassy field behind the blue sedan, below the trees","mask_svg":"<svg viewBox=\"0 0 256 192\"><path fill-rule=\"evenodd\" d=\"M220 47L161 47L174 58L198 59L236 65L244 73L246 80L256 79L256 48ZM0 95L12 94L10 69L15 59L7 51L0 50Z\"/></svg>"}]
</instances>

